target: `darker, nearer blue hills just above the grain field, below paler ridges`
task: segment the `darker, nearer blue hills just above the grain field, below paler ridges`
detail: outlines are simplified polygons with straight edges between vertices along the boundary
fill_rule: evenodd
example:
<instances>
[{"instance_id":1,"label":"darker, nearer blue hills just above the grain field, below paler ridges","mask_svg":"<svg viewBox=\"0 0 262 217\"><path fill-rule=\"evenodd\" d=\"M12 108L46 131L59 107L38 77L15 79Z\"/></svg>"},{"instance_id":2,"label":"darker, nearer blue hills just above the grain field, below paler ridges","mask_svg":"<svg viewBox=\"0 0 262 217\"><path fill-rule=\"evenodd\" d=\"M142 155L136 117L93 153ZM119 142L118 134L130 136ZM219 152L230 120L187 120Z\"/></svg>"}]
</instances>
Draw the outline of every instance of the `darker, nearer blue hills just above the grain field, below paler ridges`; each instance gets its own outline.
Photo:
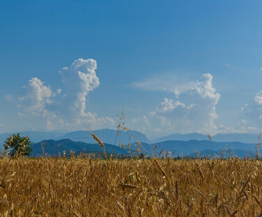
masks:
<instances>
[{"instance_id":1,"label":"darker, nearer blue hills just above the grain field, below paler ridges","mask_svg":"<svg viewBox=\"0 0 262 217\"><path fill-rule=\"evenodd\" d=\"M80 152L93 152L95 154L100 154L100 156L103 156L103 150L100 145L76 142L69 139L43 140L40 143L35 143L31 146L33 149L33 156L42 156L43 144L45 144L45 153L51 156L57 156L59 152L61 152L61 155L63 155L63 150L66 151L66 154L69 154L72 150L73 152L76 152L76 154L79 154ZM225 156L227 156L228 153L230 154L230 156L237 155L243 157L250 154L251 156L254 156L255 153L255 145L252 143L232 142L228 143L228 145L225 146L224 143L212 142L210 144L210 141L208 140L164 141L154 144L142 143L142 146L143 154L148 156L158 156L162 150L173 152L173 156L209 156L211 152L213 153L213 156L221 156L221 152L223 149ZM132 150L135 150L136 148L136 146L131 145ZM114 145L107 143L105 143L105 150L107 151L107 154L128 154L128 150L125 150L119 146L114 147Z\"/></svg>"}]
</instances>

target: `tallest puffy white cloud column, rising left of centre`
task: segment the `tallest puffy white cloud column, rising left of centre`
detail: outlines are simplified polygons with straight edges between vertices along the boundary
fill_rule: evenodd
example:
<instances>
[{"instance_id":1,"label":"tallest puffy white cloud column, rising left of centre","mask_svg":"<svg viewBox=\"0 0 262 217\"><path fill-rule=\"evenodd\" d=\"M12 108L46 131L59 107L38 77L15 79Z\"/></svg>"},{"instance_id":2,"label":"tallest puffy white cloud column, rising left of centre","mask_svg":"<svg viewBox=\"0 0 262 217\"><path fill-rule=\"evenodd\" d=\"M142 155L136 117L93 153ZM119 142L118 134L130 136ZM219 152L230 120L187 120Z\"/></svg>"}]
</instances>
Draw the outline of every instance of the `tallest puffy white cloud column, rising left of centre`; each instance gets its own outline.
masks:
<instances>
[{"instance_id":1,"label":"tallest puffy white cloud column, rising left of centre","mask_svg":"<svg viewBox=\"0 0 262 217\"><path fill-rule=\"evenodd\" d=\"M64 102L72 111L79 111L81 115L87 115L86 96L100 84L95 74L96 68L95 60L79 58L70 67L63 67L59 72L66 88Z\"/></svg>"}]
</instances>

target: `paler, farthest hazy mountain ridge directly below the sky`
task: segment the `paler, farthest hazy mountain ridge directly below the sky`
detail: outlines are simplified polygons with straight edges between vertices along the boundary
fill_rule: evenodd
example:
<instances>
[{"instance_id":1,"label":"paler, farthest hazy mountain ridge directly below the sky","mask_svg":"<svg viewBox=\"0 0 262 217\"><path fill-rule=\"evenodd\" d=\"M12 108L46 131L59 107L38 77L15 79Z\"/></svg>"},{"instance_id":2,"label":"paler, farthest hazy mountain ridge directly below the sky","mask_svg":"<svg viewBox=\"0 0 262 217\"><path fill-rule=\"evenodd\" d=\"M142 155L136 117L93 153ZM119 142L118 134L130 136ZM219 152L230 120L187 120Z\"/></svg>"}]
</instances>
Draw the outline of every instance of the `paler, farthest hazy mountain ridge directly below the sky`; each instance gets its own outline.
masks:
<instances>
[{"instance_id":1,"label":"paler, farthest hazy mountain ridge directly below the sky","mask_svg":"<svg viewBox=\"0 0 262 217\"><path fill-rule=\"evenodd\" d=\"M94 130L93 133L97 135L104 143L114 144L116 139L117 131L114 129L98 129ZM0 145L3 145L3 142L11 134L0 134ZM29 138L33 143L38 143L41 140L59 140L59 139L70 139L73 141L80 141L84 143L95 143L95 140L91 137L90 131L72 131L68 133L63 132L38 132L38 131L24 131L20 133L22 136L29 135ZM159 143L166 140L208 140L208 136L205 134L171 134L155 140L149 140L146 138L145 134L141 134L139 131L131 131L131 135L128 135L126 132L121 132L121 135L116 140L116 144L121 141L121 143L134 142L137 138L143 143ZM132 137L130 140L130 136ZM258 134L216 134L211 136L211 140L214 142L240 142L240 143L258 143Z\"/></svg>"}]
</instances>

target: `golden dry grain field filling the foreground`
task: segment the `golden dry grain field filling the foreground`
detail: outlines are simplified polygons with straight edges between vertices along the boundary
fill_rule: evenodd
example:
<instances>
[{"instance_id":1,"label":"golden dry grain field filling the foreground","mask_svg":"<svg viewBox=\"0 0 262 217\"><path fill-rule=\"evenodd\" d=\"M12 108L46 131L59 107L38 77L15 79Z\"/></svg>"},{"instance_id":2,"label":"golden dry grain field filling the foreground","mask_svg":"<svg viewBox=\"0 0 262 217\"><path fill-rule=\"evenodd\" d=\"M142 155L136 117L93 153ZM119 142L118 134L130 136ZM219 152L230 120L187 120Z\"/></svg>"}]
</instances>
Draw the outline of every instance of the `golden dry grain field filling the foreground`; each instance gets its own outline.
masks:
<instances>
[{"instance_id":1,"label":"golden dry grain field filling the foreground","mask_svg":"<svg viewBox=\"0 0 262 217\"><path fill-rule=\"evenodd\" d=\"M1 159L0 216L259 216L255 160Z\"/></svg>"}]
</instances>

